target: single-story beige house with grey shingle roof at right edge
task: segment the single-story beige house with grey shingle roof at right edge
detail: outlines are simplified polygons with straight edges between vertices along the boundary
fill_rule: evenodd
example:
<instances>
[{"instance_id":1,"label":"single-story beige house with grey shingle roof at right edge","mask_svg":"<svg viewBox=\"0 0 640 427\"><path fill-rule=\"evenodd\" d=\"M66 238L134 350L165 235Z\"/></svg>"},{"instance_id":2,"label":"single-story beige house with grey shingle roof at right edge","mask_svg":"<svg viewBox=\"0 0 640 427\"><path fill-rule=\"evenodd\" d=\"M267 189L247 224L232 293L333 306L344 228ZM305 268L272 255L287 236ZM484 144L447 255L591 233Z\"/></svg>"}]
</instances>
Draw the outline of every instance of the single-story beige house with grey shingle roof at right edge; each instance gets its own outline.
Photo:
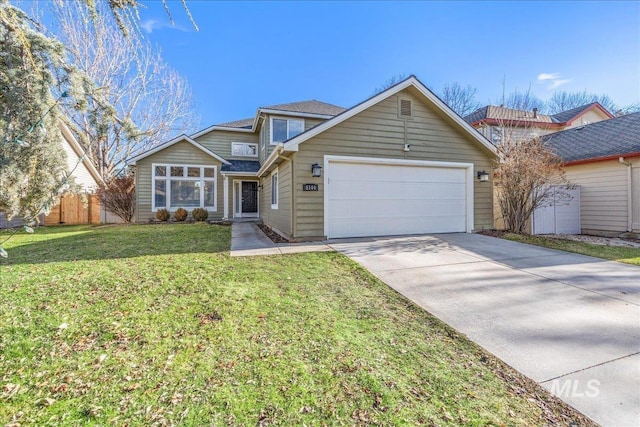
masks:
<instances>
[{"instance_id":1,"label":"single-story beige house with grey shingle roof at right edge","mask_svg":"<svg viewBox=\"0 0 640 427\"><path fill-rule=\"evenodd\" d=\"M582 232L640 233L640 113L557 132L543 140L580 185Z\"/></svg>"}]
</instances>

